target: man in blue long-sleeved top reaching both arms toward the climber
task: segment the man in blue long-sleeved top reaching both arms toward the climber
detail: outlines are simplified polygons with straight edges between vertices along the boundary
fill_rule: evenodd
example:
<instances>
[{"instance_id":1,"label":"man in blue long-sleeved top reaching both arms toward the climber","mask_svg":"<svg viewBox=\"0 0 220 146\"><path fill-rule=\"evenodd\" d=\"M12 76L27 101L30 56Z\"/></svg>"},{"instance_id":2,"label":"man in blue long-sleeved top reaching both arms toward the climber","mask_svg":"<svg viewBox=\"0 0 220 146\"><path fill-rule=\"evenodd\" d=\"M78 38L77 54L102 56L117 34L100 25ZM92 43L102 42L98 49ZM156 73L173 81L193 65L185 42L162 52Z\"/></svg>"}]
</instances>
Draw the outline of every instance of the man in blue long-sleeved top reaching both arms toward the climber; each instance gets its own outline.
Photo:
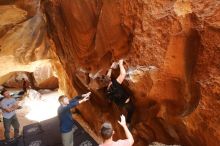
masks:
<instances>
[{"instance_id":1,"label":"man in blue long-sleeved top reaching both arms toward the climber","mask_svg":"<svg viewBox=\"0 0 220 146\"><path fill-rule=\"evenodd\" d=\"M65 95L59 97L60 106L58 108L58 117L60 120L60 132L62 136L63 146L73 146L73 127L71 108L89 100L91 92L76 96L69 100Z\"/></svg>"}]
</instances>

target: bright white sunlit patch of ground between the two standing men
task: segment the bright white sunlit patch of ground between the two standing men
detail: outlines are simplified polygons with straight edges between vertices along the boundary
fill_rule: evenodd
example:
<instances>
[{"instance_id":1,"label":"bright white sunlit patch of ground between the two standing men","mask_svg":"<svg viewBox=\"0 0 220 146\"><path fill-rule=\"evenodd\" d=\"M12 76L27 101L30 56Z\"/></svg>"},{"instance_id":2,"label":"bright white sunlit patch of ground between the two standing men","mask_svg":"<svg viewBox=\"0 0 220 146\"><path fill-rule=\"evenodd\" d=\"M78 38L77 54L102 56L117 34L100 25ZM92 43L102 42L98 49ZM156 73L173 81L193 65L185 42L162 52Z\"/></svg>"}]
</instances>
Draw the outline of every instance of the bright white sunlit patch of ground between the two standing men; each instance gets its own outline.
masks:
<instances>
[{"instance_id":1,"label":"bright white sunlit patch of ground between the two standing men","mask_svg":"<svg viewBox=\"0 0 220 146\"><path fill-rule=\"evenodd\" d=\"M24 106L29 109L25 117L40 122L57 116L58 97L58 92L40 95L31 91L29 97L26 97L24 101Z\"/></svg>"}]
</instances>

